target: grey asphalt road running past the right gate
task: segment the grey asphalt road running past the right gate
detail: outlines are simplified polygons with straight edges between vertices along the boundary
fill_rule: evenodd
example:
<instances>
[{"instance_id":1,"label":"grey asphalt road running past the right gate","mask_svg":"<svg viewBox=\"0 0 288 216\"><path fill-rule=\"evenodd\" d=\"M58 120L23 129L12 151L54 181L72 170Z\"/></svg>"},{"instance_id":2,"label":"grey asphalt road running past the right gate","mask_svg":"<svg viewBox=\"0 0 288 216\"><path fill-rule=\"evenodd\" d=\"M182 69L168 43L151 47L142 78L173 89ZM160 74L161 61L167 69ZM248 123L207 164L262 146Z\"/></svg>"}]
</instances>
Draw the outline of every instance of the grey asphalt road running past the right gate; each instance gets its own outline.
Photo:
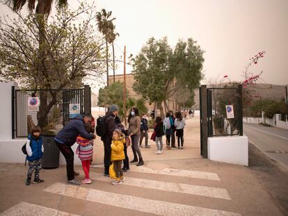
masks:
<instances>
[{"instance_id":1,"label":"grey asphalt road running past the right gate","mask_svg":"<svg viewBox=\"0 0 288 216\"><path fill-rule=\"evenodd\" d=\"M243 133L268 156L288 168L288 131L259 124L243 123Z\"/></svg>"}]
</instances>

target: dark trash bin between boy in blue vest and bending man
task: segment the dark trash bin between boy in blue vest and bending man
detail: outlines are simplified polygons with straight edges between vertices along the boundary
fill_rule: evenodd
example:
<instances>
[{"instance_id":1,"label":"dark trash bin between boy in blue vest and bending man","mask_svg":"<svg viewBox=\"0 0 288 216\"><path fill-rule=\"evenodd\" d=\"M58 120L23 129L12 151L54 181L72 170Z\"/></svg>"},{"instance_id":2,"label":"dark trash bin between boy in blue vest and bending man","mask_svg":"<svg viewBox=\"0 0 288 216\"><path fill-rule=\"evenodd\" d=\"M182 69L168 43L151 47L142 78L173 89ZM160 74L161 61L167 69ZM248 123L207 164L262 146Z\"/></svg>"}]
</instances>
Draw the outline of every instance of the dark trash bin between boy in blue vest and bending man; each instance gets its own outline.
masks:
<instances>
[{"instance_id":1,"label":"dark trash bin between boy in blue vest and bending man","mask_svg":"<svg viewBox=\"0 0 288 216\"><path fill-rule=\"evenodd\" d=\"M60 151L55 144L55 135L42 135L44 154L42 156L42 168L56 169L59 167Z\"/></svg>"}]
</instances>

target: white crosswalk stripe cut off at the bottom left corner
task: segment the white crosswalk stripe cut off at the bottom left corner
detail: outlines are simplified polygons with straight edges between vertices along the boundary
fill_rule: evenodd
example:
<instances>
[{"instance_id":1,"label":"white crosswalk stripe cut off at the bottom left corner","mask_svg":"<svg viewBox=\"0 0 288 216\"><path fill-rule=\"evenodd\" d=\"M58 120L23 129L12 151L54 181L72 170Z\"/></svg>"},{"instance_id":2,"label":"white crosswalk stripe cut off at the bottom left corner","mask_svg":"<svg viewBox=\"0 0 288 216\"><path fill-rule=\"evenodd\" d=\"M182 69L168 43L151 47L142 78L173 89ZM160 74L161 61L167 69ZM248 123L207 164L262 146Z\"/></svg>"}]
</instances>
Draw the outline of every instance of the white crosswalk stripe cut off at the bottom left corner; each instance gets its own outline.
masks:
<instances>
[{"instance_id":1,"label":"white crosswalk stripe cut off at the bottom left corner","mask_svg":"<svg viewBox=\"0 0 288 216\"><path fill-rule=\"evenodd\" d=\"M15 206L12 206L8 210L6 210L3 213L0 213L0 216L15 216L15 215L21 215L21 216L35 216L35 215L41 215L41 216L79 216L79 215L73 215L70 213L65 213L60 210L56 210L54 208L47 208L44 206L38 206L31 203L26 202L20 202Z\"/></svg>"}]
</instances>

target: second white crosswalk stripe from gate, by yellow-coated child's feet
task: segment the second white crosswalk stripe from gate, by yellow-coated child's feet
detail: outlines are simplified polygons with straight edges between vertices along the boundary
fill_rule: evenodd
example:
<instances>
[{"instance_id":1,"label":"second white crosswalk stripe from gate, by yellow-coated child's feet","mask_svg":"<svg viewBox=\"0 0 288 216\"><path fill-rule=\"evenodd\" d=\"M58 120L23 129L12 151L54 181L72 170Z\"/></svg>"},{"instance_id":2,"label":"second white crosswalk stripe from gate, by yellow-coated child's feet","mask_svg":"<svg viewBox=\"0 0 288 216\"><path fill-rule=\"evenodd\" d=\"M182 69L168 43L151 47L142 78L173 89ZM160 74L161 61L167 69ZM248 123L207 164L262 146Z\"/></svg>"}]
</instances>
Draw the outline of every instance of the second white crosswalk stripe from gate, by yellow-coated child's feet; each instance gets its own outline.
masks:
<instances>
[{"instance_id":1,"label":"second white crosswalk stripe from gate, by yellow-coated child's feet","mask_svg":"<svg viewBox=\"0 0 288 216\"><path fill-rule=\"evenodd\" d=\"M81 174L83 174L82 171ZM90 178L96 181L104 181L111 183L111 178L107 178L102 174L90 172ZM179 192L184 194L194 194L205 197L214 197L220 199L231 199L227 190L222 188L210 188L199 185L188 185L182 183L170 183L163 181L154 181L150 179L125 177L124 185L135 186L139 188L150 188L155 190L164 190L168 192Z\"/></svg>"}]
</instances>

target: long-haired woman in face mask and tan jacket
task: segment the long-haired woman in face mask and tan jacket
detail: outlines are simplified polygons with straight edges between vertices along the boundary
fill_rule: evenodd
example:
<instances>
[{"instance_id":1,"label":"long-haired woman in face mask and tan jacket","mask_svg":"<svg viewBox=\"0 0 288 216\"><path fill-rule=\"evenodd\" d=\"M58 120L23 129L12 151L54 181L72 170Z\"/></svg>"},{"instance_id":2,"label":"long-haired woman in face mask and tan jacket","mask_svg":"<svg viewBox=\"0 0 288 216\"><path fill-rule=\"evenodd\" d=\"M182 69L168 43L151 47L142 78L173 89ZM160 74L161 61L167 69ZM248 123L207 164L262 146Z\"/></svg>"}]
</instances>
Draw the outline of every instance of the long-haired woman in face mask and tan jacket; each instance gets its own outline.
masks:
<instances>
[{"instance_id":1,"label":"long-haired woman in face mask and tan jacket","mask_svg":"<svg viewBox=\"0 0 288 216\"><path fill-rule=\"evenodd\" d=\"M129 135L131 137L131 143L132 143L132 150L134 154L134 159L131 160L131 163L137 162L139 158L139 162L137 166L144 165L143 158L141 155L141 151L139 149L138 143L140 138L140 126L141 126L141 119L139 117L139 111L138 108L134 107L131 109L131 113L128 117L129 121ZM137 158L138 154L138 158Z\"/></svg>"}]
</instances>

